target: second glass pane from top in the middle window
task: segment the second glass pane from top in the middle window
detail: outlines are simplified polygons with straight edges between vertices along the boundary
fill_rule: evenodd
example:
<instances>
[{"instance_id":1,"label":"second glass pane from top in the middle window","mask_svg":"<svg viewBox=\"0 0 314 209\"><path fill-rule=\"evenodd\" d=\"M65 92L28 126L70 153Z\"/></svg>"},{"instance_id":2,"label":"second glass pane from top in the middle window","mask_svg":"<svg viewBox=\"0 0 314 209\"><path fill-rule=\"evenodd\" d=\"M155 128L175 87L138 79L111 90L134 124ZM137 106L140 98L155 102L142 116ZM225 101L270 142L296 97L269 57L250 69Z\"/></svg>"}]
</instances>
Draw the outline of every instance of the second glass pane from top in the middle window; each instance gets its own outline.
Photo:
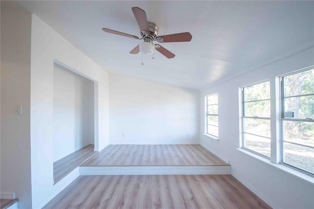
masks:
<instances>
[{"instance_id":1,"label":"second glass pane from top in the middle window","mask_svg":"<svg viewBox=\"0 0 314 209\"><path fill-rule=\"evenodd\" d=\"M244 103L244 116L270 117L270 101Z\"/></svg>"}]
</instances>

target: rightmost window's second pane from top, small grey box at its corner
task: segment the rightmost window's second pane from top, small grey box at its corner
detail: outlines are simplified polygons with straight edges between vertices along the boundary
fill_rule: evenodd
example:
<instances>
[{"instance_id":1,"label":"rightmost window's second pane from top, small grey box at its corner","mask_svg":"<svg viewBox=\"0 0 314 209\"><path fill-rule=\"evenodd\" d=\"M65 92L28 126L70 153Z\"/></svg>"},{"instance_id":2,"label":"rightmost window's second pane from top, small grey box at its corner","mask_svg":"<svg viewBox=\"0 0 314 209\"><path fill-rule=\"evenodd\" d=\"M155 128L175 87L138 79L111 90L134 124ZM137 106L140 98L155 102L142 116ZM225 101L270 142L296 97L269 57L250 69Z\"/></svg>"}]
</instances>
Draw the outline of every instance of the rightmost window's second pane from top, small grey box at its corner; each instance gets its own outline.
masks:
<instances>
[{"instance_id":1,"label":"rightmost window's second pane from top, small grey box at its corner","mask_svg":"<svg viewBox=\"0 0 314 209\"><path fill-rule=\"evenodd\" d=\"M286 98L285 112L289 112L285 114L287 118L314 118L314 96Z\"/></svg>"}]
</instances>

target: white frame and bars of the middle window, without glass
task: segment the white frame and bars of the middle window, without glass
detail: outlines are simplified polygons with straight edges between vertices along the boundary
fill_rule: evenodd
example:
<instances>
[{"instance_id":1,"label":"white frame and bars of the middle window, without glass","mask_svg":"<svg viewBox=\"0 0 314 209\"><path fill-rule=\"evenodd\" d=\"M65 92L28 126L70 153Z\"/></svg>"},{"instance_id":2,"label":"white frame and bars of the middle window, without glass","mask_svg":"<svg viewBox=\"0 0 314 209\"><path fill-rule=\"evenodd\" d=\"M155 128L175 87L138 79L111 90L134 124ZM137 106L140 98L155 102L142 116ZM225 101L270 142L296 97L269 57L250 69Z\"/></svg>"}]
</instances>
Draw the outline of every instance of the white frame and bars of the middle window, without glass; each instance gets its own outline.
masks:
<instances>
[{"instance_id":1,"label":"white frame and bars of the middle window, without glass","mask_svg":"<svg viewBox=\"0 0 314 209\"><path fill-rule=\"evenodd\" d=\"M250 87L250 86L254 86L254 85L258 85L258 84L265 83L265 82L269 82L269 99L252 100L252 101L246 101L245 102L245 100L244 100L244 88L247 88L247 87ZM248 103L248 102L261 102L261 101L269 101L269 105L270 105L270 101L271 101L270 80L269 79L262 80L262 81L259 81L259 82L256 82L256 83L252 83L252 84L249 84L249 85L246 85L246 86L242 86L241 87L241 94L242 94L241 95L242 96L241 97L241 99L242 99L242 101L241 101L241 105L242 105L242 109L241 109L242 110L242 112L241 112L241 128L242 128L242 130L241 130L241 133L242 133L242 135L241 135L241 149L249 151L249 152L252 152L252 153L254 153L256 155L259 155L261 157L265 157L267 159L270 159L270 157L271 157L271 149L270 149L270 156L266 156L266 155L263 155L262 153L256 152L254 150L251 150L251 149L245 147L245 140L244 140L244 133L245 133L245 134L255 135L255 136L258 136L258 137L267 138L267 139L269 139L270 144L271 144L271 131L270 131L270 136L269 137L261 136L261 135L253 134L253 133L248 133L248 132L244 131L244 128L245 128L244 120L246 118L248 118L248 119L268 120L269 123L271 123L271 114L269 115L269 118L268 117L258 117L258 116L245 116L245 105L244 105L245 103ZM271 110L271 106L269 106L269 109ZM271 126L270 126L270 128L271 128Z\"/></svg>"}]
</instances>

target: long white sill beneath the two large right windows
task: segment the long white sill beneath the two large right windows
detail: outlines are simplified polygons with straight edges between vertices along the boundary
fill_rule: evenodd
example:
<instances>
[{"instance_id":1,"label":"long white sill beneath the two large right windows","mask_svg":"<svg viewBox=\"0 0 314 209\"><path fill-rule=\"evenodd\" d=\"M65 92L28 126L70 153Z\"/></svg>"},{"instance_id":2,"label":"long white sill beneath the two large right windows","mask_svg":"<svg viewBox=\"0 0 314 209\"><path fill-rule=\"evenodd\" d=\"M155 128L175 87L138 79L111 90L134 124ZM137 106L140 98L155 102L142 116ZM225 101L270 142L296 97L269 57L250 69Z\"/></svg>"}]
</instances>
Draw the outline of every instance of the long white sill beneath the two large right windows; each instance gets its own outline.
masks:
<instances>
[{"instance_id":1,"label":"long white sill beneath the two large right windows","mask_svg":"<svg viewBox=\"0 0 314 209\"><path fill-rule=\"evenodd\" d=\"M246 151L246 150L243 150L243 149L240 149L240 148L237 148L237 150L242 152L242 153L244 153L244 154L246 154L246 155L248 155L248 156L255 157L255 158L261 160L262 162L264 162L264 163L266 163L268 165L276 167L276 168L278 168L278 169L280 169L282 171L285 171L285 172L287 172L287 173L289 173L289 174L291 174L291 175L293 175L293 176L295 176L295 177L297 177L299 179L302 179L302 180L304 180L304 181L306 181L308 183L312 183L314 185L314 177L312 177L310 175L302 173L302 172L300 172L300 171L298 171L296 169L290 168L290 167L288 167L286 165L283 165L283 164L273 163L269 159L267 159L265 157L262 157L262 156L259 156L259 155L256 155L254 153L251 153L249 151Z\"/></svg>"}]
</instances>

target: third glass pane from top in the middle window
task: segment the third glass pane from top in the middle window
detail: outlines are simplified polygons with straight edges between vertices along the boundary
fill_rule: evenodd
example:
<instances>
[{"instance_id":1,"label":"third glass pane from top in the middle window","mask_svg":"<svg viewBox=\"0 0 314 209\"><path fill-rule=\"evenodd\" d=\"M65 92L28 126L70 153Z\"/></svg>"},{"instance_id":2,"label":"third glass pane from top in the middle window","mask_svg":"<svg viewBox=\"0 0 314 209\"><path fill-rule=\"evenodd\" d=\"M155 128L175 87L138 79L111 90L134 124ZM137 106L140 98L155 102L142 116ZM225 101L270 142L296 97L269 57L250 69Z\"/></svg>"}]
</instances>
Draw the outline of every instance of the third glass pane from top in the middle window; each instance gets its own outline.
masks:
<instances>
[{"instance_id":1,"label":"third glass pane from top in the middle window","mask_svg":"<svg viewBox=\"0 0 314 209\"><path fill-rule=\"evenodd\" d=\"M270 120L243 118L244 132L270 137Z\"/></svg>"}]
</instances>

